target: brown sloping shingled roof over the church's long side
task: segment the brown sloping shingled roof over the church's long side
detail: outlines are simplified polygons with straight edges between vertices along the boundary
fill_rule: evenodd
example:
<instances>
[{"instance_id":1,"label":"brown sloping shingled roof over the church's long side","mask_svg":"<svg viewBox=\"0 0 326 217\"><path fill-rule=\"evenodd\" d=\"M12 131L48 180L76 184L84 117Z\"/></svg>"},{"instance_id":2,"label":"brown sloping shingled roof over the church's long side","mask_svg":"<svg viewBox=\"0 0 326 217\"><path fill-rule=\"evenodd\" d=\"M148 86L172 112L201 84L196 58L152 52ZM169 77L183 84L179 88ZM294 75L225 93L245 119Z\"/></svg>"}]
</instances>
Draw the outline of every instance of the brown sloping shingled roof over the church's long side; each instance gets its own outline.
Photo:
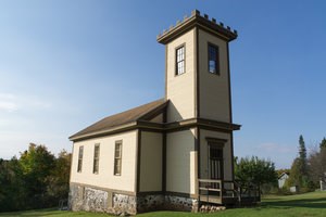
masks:
<instances>
[{"instance_id":1,"label":"brown sloping shingled roof over the church's long side","mask_svg":"<svg viewBox=\"0 0 326 217\"><path fill-rule=\"evenodd\" d=\"M128 125L128 124L136 124L135 122L139 119L149 120L149 118L154 117L158 115L158 112L162 111L168 101L165 99L160 99L138 107L108 116L93 125L78 131L77 133L70 137L70 140L80 140L93 136L103 135L105 132L112 131L114 128ZM127 126L126 126L127 127Z\"/></svg>"}]
</instances>

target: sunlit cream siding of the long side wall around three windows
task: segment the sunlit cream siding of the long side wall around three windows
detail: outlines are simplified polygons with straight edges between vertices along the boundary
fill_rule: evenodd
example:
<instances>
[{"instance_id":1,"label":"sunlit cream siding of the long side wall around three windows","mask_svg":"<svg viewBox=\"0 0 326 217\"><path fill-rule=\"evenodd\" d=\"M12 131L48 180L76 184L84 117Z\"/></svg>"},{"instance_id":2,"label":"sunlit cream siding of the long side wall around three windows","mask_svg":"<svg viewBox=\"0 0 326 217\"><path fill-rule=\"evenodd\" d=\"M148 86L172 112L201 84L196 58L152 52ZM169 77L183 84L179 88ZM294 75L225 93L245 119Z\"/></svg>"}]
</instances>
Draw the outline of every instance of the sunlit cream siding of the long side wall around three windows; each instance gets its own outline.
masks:
<instances>
[{"instance_id":1,"label":"sunlit cream siding of the long side wall around three windows","mask_svg":"<svg viewBox=\"0 0 326 217\"><path fill-rule=\"evenodd\" d=\"M122 176L113 175L115 141L123 140ZM92 174L93 145L100 144L99 174ZM135 192L137 132L90 139L74 143L71 182ZM83 169L77 173L78 151L84 145Z\"/></svg>"}]
</instances>

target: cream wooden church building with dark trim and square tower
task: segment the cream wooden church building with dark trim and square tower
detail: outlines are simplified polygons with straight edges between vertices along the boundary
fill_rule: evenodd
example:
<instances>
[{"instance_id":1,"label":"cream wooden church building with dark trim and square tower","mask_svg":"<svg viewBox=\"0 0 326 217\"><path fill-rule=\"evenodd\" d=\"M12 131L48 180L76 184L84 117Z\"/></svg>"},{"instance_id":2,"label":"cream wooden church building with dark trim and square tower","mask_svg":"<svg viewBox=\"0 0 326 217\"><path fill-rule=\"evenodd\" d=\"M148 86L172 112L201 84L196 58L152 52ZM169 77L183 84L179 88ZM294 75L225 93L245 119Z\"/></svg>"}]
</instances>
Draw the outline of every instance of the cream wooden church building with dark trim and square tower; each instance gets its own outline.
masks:
<instances>
[{"instance_id":1,"label":"cream wooden church building with dark trim and square tower","mask_svg":"<svg viewBox=\"0 0 326 217\"><path fill-rule=\"evenodd\" d=\"M165 95L70 137L70 208L111 214L235 203L229 42L237 31L195 10L156 37ZM140 68L139 68L140 69Z\"/></svg>"}]
</instances>

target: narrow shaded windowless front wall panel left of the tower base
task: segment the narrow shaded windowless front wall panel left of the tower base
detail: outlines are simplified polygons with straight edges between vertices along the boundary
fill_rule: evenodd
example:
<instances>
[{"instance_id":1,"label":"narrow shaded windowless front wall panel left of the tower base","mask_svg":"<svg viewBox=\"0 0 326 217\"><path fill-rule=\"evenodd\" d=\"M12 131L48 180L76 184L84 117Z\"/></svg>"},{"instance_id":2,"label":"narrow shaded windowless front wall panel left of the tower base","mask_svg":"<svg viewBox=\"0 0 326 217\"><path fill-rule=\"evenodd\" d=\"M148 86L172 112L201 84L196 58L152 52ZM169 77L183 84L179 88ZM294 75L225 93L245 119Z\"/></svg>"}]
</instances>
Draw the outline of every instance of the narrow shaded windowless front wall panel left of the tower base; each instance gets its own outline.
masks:
<instances>
[{"instance_id":1,"label":"narrow shaded windowless front wall panel left of the tower base","mask_svg":"<svg viewBox=\"0 0 326 217\"><path fill-rule=\"evenodd\" d=\"M162 190L162 133L141 131L140 192Z\"/></svg>"}]
</instances>

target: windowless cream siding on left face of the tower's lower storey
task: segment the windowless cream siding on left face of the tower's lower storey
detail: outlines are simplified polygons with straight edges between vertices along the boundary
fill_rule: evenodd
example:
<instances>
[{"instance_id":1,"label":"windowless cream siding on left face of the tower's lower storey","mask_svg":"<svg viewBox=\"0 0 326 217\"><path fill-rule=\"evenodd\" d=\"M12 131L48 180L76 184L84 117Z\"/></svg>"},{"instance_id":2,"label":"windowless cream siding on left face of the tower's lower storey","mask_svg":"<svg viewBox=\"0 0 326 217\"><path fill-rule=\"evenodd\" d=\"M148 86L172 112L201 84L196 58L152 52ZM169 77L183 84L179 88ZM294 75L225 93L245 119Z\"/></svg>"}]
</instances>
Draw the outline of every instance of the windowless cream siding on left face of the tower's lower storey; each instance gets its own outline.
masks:
<instances>
[{"instance_id":1,"label":"windowless cream siding on left face of the tower's lower storey","mask_svg":"<svg viewBox=\"0 0 326 217\"><path fill-rule=\"evenodd\" d=\"M166 135L166 191L195 194L195 132Z\"/></svg>"}]
</instances>

